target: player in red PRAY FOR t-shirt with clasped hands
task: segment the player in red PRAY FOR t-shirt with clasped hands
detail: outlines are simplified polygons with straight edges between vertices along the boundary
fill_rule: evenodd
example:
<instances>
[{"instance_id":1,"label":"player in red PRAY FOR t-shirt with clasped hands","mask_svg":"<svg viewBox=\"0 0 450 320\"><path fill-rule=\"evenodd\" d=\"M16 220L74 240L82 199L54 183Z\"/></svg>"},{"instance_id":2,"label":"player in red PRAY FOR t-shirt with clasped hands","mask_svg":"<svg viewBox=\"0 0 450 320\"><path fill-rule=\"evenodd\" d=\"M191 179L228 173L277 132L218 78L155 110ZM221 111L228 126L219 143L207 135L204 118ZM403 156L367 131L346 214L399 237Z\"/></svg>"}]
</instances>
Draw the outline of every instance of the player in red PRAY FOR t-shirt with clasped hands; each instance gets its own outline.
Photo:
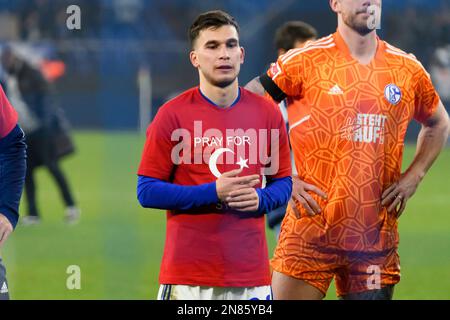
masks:
<instances>
[{"instance_id":1,"label":"player in red PRAY FOR t-shirt with clasped hands","mask_svg":"<svg viewBox=\"0 0 450 320\"><path fill-rule=\"evenodd\" d=\"M201 14L189 37L199 86L160 108L138 171L142 206L168 210L158 299L271 299L264 213L291 194L284 121L239 87L234 18Z\"/></svg>"}]
</instances>

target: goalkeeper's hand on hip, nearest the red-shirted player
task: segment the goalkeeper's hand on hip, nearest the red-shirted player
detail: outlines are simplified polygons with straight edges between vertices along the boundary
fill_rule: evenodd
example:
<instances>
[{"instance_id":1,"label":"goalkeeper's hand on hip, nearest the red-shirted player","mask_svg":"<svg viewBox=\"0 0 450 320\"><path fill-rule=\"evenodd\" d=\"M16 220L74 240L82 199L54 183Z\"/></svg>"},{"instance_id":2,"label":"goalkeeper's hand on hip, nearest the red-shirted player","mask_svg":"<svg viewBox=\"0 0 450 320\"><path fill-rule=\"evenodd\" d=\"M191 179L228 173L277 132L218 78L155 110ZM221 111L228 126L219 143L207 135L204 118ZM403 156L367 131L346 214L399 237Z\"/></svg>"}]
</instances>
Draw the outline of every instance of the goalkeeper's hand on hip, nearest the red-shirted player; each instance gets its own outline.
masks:
<instances>
[{"instance_id":1,"label":"goalkeeper's hand on hip, nearest the red-shirted player","mask_svg":"<svg viewBox=\"0 0 450 320\"><path fill-rule=\"evenodd\" d=\"M297 175L294 175L292 177L292 198L289 201L289 205L291 206L292 210L295 213L295 216L300 219L301 215L296 207L296 203L300 203L303 208L305 208L306 212L310 216L314 216L316 214L319 214L322 209L317 204L316 200L314 200L313 197L308 193L308 191L312 191L315 194L319 195L323 199L327 198L327 194L320 190L315 185L306 183L305 181L301 180Z\"/></svg>"}]
</instances>

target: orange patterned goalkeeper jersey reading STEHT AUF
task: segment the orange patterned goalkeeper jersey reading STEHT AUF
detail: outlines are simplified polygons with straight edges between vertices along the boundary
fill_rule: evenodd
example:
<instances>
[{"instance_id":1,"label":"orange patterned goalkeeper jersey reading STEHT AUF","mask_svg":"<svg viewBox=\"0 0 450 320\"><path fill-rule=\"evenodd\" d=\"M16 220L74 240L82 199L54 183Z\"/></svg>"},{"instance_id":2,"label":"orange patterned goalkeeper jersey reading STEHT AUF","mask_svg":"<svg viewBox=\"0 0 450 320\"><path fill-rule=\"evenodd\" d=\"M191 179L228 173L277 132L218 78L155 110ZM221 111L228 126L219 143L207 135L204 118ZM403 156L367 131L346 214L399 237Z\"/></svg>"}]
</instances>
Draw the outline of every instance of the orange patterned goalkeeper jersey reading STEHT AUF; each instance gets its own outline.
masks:
<instances>
[{"instance_id":1,"label":"orange patterned goalkeeper jersey reading STEHT AUF","mask_svg":"<svg viewBox=\"0 0 450 320\"><path fill-rule=\"evenodd\" d=\"M397 220L381 194L400 176L409 122L424 122L439 97L413 55L377 42L362 65L336 32L290 50L267 72L278 87L272 96L297 100L289 135L299 176L328 194L313 195L322 208L315 217L298 205L299 241L369 252L398 245Z\"/></svg>"}]
</instances>

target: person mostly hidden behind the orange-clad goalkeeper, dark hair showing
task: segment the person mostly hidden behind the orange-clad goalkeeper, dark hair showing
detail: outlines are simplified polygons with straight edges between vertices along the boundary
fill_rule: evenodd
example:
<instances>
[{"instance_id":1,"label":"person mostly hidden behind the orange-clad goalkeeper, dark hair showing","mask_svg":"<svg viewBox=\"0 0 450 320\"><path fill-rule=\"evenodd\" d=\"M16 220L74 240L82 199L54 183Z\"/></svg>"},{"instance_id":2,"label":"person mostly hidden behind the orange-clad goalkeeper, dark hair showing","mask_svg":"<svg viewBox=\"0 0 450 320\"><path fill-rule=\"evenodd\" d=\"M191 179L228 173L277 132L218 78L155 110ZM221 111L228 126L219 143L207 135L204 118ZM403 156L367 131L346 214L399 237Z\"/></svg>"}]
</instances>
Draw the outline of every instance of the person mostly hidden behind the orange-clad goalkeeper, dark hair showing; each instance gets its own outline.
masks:
<instances>
[{"instance_id":1,"label":"person mostly hidden behind the orange-clad goalkeeper, dark hair showing","mask_svg":"<svg viewBox=\"0 0 450 320\"><path fill-rule=\"evenodd\" d=\"M302 48L309 40L315 40L317 38L317 30L303 22L303 21L288 21L279 27L275 33L275 46L277 48L278 57L285 54L291 49ZM295 99L286 98L281 101L278 106L280 107L281 114L288 128L294 125L301 118L299 118L299 108L296 106ZM295 169L294 159L291 152L292 163L292 183L293 189L295 189L298 176ZM320 190L317 190L320 192ZM299 196L299 193L293 192L292 196ZM287 204L280 208L277 208L267 214L267 224L269 228L274 230L275 237L278 239L280 235L281 221L283 221L286 214Z\"/></svg>"}]
</instances>

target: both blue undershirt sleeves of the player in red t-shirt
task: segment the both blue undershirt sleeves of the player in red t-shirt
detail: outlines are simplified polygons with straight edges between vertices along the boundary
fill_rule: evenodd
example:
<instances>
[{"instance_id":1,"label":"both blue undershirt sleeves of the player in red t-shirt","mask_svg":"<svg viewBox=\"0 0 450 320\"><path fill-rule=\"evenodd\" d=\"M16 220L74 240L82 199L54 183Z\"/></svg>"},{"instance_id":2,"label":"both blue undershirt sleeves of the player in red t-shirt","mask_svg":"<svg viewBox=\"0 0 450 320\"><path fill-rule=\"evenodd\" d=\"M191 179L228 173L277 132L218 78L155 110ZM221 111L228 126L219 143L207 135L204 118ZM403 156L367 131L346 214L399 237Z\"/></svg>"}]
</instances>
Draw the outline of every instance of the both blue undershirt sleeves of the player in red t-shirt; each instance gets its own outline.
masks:
<instances>
[{"instance_id":1,"label":"both blue undershirt sleeves of the player in red t-shirt","mask_svg":"<svg viewBox=\"0 0 450 320\"><path fill-rule=\"evenodd\" d=\"M267 213L286 204L292 192L292 178L268 181L266 188L256 189L259 196L258 213ZM189 210L219 202L216 183L181 186L159 179L139 176L137 196L145 208Z\"/></svg>"}]
</instances>

